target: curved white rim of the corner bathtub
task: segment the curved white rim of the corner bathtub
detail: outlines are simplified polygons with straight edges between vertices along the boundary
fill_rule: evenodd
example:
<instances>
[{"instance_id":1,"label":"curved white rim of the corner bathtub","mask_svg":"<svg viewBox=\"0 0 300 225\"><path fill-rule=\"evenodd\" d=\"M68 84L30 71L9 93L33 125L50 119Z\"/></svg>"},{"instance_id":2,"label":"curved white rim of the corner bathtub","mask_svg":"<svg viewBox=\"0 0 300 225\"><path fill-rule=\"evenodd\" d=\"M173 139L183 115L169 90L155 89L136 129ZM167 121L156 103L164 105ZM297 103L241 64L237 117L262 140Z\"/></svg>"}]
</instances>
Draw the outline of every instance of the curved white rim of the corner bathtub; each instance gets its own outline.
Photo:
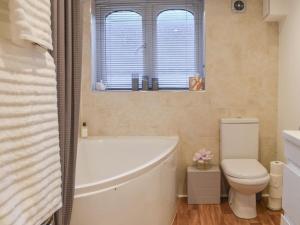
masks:
<instances>
[{"instance_id":1,"label":"curved white rim of the corner bathtub","mask_svg":"<svg viewBox=\"0 0 300 225\"><path fill-rule=\"evenodd\" d=\"M160 163L165 161L170 155L176 152L179 145L178 136L92 136L84 138L84 140L98 140L98 139L118 139L118 138L155 138L155 139L173 139L174 143L170 147L166 148L157 157L152 158L147 163L133 168L132 170L126 171L124 173L118 174L108 179L91 182L87 184L81 184L75 186L74 198L82 198L90 195L98 194L103 191L118 188L131 180L139 177L140 175L150 171L154 167L158 166ZM82 140L79 138L78 143ZM76 176L75 176L76 179Z\"/></svg>"}]
</instances>

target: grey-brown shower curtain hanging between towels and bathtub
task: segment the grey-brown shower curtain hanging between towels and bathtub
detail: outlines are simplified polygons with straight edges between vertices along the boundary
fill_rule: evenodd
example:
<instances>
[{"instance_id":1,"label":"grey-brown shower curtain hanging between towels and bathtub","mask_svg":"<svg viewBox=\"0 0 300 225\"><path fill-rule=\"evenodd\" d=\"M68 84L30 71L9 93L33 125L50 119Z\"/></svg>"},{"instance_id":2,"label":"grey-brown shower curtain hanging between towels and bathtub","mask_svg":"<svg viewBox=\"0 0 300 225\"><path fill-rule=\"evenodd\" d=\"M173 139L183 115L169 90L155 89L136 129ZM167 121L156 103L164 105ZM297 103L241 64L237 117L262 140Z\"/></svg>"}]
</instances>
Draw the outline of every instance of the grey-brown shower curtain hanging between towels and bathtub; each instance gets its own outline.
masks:
<instances>
[{"instance_id":1,"label":"grey-brown shower curtain hanging between towels and bathtub","mask_svg":"<svg viewBox=\"0 0 300 225\"><path fill-rule=\"evenodd\" d=\"M52 52L57 71L62 208L55 225L69 225L72 213L81 81L80 0L51 0Z\"/></svg>"}]
</instances>

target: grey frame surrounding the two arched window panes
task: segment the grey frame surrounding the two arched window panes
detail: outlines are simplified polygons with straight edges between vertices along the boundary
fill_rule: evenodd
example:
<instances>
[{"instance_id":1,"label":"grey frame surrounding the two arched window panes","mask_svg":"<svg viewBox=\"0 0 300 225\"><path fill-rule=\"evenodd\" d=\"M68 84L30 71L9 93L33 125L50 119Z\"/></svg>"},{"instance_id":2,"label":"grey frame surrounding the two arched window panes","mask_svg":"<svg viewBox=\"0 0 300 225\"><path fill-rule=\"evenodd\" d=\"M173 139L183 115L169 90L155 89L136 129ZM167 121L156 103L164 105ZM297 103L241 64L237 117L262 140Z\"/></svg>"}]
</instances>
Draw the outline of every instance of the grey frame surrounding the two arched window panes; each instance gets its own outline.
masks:
<instances>
[{"instance_id":1,"label":"grey frame surrounding the two arched window panes","mask_svg":"<svg viewBox=\"0 0 300 225\"><path fill-rule=\"evenodd\" d=\"M164 1L164 3L162 3ZM156 22L160 13L168 10L186 10L195 19L195 71L205 77L205 35L204 35L204 0L94 0L94 9L100 10L100 27L95 27L96 35L100 35L101 44L93 44L97 49L94 53L94 80L98 81L105 74L105 21L106 17L118 11L131 11L142 16L144 39L144 75L149 79L156 77ZM105 7L109 5L109 7ZM100 9L99 9L99 8ZM109 9L108 9L109 8ZM94 12L95 13L95 12ZM96 22L94 23L96 26ZM97 38L93 39L97 41ZM98 54L100 52L100 55ZM100 76L100 77L99 77ZM95 85L93 85L95 88ZM130 87L128 90L131 89ZM168 89L168 88L167 88ZM170 88L182 89L182 88ZM184 88L188 89L188 87Z\"/></svg>"}]
</instances>

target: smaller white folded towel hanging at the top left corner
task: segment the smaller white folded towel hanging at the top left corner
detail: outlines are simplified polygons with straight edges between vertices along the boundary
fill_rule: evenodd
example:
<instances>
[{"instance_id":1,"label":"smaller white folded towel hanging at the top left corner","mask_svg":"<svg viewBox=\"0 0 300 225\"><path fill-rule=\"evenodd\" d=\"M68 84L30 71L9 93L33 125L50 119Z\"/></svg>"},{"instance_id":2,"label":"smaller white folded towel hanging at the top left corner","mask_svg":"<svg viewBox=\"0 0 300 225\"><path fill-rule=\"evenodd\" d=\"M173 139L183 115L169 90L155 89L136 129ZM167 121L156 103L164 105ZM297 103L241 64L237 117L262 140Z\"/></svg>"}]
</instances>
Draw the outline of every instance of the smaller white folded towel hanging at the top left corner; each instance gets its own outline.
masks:
<instances>
[{"instance_id":1,"label":"smaller white folded towel hanging at the top left corner","mask_svg":"<svg viewBox=\"0 0 300 225\"><path fill-rule=\"evenodd\" d=\"M53 50L50 0L9 0L9 18L14 43Z\"/></svg>"}]
</instances>

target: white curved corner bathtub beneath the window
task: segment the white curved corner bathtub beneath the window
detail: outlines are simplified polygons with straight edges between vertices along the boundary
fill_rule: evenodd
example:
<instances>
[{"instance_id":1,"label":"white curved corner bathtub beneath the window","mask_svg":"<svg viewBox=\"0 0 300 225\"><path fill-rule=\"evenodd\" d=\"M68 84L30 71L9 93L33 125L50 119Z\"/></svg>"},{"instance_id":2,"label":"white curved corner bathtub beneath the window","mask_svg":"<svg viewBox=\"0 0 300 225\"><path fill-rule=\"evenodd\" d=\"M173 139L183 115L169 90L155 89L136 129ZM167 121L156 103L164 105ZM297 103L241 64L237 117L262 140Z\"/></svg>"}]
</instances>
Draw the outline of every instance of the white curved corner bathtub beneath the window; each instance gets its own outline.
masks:
<instances>
[{"instance_id":1,"label":"white curved corner bathtub beneath the window","mask_svg":"<svg viewBox=\"0 0 300 225\"><path fill-rule=\"evenodd\" d=\"M79 141L71 225L171 225L177 137Z\"/></svg>"}]
</instances>

